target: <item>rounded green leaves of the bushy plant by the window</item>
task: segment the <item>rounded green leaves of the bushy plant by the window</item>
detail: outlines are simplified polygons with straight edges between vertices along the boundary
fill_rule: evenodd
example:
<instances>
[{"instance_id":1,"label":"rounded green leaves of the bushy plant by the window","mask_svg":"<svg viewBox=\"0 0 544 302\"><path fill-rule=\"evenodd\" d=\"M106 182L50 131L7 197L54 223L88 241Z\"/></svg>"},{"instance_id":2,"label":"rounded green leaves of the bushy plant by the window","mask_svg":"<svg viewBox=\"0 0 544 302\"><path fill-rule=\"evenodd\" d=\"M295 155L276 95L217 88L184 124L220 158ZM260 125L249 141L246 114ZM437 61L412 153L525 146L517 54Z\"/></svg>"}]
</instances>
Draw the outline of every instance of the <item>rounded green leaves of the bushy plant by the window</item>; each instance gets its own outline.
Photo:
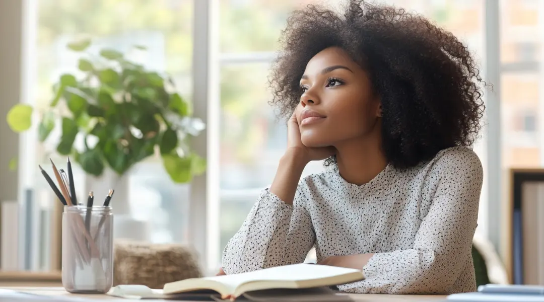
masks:
<instances>
[{"instance_id":1,"label":"rounded green leaves of the bushy plant by the window","mask_svg":"<svg viewBox=\"0 0 544 302\"><path fill-rule=\"evenodd\" d=\"M108 170L122 178L153 154L160 154L175 183L188 183L203 173L205 160L190 148L191 137L199 135L203 123L191 117L191 106L176 92L174 81L113 49L93 55L90 46L90 40L67 45L81 53L78 72L62 74L48 108L36 112L39 141L60 127L55 152L70 155L97 178ZM28 130L33 111L27 104L11 108L7 116L11 129ZM77 136L83 137L81 149L75 148Z\"/></svg>"}]
</instances>

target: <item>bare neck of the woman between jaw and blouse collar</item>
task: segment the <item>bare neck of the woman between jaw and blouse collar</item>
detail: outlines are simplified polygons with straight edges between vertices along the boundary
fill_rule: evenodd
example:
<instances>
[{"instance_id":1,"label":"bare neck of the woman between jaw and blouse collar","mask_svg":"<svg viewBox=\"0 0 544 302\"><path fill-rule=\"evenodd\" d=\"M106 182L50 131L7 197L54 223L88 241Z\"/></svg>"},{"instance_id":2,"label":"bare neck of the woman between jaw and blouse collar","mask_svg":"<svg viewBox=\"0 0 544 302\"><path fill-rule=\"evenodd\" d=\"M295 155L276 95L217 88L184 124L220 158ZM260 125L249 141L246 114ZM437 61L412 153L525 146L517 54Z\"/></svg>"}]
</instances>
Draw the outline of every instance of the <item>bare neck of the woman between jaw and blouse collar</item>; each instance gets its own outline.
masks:
<instances>
[{"instance_id":1,"label":"bare neck of the woman between jaw and blouse collar","mask_svg":"<svg viewBox=\"0 0 544 302\"><path fill-rule=\"evenodd\" d=\"M374 179L387 166L379 137L367 137L336 146L336 161L341 177L358 186Z\"/></svg>"}]
</instances>

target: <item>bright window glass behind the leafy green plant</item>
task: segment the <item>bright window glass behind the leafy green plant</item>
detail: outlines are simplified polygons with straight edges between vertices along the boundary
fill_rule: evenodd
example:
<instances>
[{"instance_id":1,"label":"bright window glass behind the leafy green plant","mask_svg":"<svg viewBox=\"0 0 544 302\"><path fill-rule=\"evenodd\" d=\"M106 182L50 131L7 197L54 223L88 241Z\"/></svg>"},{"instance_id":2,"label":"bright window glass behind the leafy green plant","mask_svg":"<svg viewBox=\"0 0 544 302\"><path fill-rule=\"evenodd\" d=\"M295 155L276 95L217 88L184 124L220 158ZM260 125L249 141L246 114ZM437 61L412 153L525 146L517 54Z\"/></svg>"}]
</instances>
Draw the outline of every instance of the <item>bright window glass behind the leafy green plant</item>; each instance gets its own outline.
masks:
<instances>
[{"instance_id":1,"label":"bright window glass behind the leafy green plant","mask_svg":"<svg viewBox=\"0 0 544 302\"><path fill-rule=\"evenodd\" d=\"M90 37L93 45L123 53L135 45L147 47L146 52L128 55L147 68L171 74L181 95L191 99L192 0L38 0L35 3L32 9L37 18L36 40L32 42L36 60L32 78L28 79L34 90L35 106L48 106L53 98L52 83L61 73L76 72L78 54L69 51L66 45L82 37ZM66 161L55 155L55 133L52 136L52 141L22 150L25 158L36 159L48 171L51 171L50 157L57 163ZM93 179L85 177L77 165L74 169L79 200L82 200L89 186L94 186ZM33 181L30 185L36 191L35 196L41 199L38 212L44 210L51 215L53 194L35 170L35 167L29 169L31 172L26 178L35 180L36 185L32 185ZM172 183L159 158L152 157L135 166L122 183L127 186L127 194L125 198L117 196L112 205L119 208L122 203L127 204L130 215L144 231L137 235L151 242L186 240L189 185ZM95 194L105 197L107 191L95 191ZM46 266L36 262L32 269Z\"/></svg>"}]
</instances>

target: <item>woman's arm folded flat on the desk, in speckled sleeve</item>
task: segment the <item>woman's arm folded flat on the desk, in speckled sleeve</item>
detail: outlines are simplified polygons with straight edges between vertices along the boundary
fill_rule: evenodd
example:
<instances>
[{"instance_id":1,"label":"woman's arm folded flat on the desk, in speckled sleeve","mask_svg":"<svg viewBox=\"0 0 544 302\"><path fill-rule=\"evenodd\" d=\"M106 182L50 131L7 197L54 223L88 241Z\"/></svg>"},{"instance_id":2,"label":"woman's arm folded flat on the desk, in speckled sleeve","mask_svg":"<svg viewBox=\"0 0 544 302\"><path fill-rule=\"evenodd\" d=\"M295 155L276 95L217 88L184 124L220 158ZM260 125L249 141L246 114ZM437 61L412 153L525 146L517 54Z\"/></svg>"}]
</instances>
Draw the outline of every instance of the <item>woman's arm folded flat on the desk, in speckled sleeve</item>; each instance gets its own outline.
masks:
<instances>
[{"instance_id":1,"label":"woman's arm folded flat on the desk, in speckled sleeve","mask_svg":"<svg viewBox=\"0 0 544 302\"><path fill-rule=\"evenodd\" d=\"M438 183L412 249L323 261L363 269L366 280L340 286L342 291L449 293L471 256L483 169L478 156L468 150L444 154L431 169L429 176Z\"/></svg>"}]
</instances>

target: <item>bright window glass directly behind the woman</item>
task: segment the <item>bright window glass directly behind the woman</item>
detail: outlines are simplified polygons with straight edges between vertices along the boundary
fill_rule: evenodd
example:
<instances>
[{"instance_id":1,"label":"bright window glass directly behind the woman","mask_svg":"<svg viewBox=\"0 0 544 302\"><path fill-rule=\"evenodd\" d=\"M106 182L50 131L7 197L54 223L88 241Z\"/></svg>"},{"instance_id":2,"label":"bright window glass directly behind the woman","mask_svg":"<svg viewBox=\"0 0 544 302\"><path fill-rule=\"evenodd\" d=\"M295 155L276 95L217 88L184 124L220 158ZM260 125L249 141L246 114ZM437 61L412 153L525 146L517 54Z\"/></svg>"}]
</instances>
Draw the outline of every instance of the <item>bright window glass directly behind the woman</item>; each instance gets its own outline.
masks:
<instances>
[{"instance_id":1,"label":"bright window glass directly behind the woman","mask_svg":"<svg viewBox=\"0 0 544 302\"><path fill-rule=\"evenodd\" d=\"M227 241L240 228L261 190L270 185L286 147L285 125L278 124L267 104L269 62L290 10L322 1L220 2L220 244L218 260ZM437 20L459 35L477 54L483 49L483 2L382 1L415 10ZM338 0L329 4L342 3ZM430 4L430 5L429 5ZM481 142L479 142L481 144ZM477 146L482 161L485 154ZM322 171L321 162L309 165L304 175ZM480 223L483 224L483 223ZM219 264L217 265L219 266Z\"/></svg>"}]
</instances>

